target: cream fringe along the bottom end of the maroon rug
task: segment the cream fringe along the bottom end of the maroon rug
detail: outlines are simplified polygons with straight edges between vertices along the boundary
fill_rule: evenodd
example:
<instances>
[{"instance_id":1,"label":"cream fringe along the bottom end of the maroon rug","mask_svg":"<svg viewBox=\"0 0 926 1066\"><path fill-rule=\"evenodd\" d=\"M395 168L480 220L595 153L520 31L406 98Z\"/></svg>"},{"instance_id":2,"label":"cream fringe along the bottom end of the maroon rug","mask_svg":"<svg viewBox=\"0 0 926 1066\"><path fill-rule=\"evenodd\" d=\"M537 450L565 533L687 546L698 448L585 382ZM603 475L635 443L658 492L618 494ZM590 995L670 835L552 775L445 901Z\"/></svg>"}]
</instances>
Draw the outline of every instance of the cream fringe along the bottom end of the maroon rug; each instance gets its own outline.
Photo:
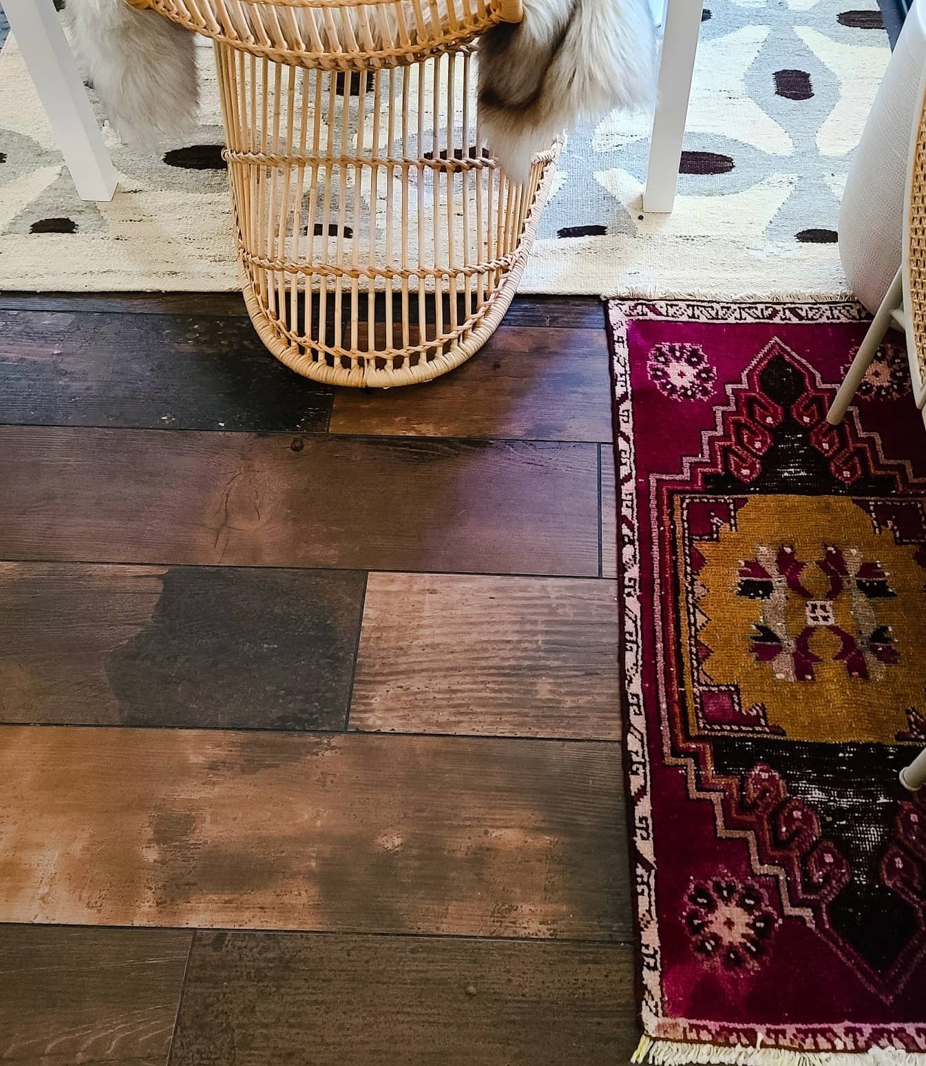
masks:
<instances>
[{"instance_id":1,"label":"cream fringe along the bottom end of the maroon rug","mask_svg":"<svg viewBox=\"0 0 926 1066\"><path fill-rule=\"evenodd\" d=\"M926 1066L926 1052L899 1048L795 1051L791 1048L721 1047L656 1040L645 1035L630 1061L650 1066Z\"/></svg>"}]
</instances>

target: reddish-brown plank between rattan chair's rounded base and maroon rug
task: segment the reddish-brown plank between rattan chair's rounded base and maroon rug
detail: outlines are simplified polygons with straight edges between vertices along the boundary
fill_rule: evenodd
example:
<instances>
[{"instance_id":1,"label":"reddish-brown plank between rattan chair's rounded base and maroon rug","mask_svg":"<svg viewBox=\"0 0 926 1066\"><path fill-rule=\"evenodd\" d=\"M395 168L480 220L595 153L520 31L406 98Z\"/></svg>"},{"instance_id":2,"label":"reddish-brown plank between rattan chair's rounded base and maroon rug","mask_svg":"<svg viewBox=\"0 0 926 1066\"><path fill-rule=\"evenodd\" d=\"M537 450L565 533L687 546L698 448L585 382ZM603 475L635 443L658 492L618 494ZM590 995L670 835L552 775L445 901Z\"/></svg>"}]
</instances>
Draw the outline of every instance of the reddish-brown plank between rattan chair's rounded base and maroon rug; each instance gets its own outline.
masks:
<instances>
[{"instance_id":1,"label":"reddish-brown plank between rattan chair's rounded base and maroon rug","mask_svg":"<svg viewBox=\"0 0 926 1066\"><path fill-rule=\"evenodd\" d=\"M330 430L423 437L611 440L604 330L501 326L468 362L426 386L385 393L339 389Z\"/></svg>"}]
</instances>

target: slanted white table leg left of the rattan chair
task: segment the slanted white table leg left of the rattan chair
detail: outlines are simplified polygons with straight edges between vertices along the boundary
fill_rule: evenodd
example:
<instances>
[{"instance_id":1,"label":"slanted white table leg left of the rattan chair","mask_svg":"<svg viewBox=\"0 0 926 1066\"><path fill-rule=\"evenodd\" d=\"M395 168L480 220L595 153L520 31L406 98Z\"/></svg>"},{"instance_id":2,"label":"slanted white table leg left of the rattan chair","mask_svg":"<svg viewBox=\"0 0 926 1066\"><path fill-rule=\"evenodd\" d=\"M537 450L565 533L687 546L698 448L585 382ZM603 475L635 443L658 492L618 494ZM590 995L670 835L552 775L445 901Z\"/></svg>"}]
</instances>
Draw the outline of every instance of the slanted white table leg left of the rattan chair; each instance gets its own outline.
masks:
<instances>
[{"instance_id":1,"label":"slanted white table leg left of the rattan chair","mask_svg":"<svg viewBox=\"0 0 926 1066\"><path fill-rule=\"evenodd\" d=\"M116 171L52 0L3 0L3 11L78 195L112 199Z\"/></svg>"}]
</instances>

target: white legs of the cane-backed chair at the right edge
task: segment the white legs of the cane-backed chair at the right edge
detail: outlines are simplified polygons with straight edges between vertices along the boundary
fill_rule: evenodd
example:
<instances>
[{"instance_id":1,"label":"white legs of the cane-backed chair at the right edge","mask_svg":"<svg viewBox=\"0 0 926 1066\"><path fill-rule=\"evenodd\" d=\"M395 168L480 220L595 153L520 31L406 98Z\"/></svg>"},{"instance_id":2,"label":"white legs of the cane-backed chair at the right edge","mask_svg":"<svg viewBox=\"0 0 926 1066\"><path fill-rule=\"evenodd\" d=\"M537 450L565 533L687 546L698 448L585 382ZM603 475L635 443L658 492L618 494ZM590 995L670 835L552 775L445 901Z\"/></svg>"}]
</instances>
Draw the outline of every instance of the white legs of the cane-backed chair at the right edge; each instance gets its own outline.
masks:
<instances>
[{"instance_id":1,"label":"white legs of the cane-backed chair at the right edge","mask_svg":"<svg viewBox=\"0 0 926 1066\"><path fill-rule=\"evenodd\" d=\"M827 411L827 421L839 425L845 418L849 404L862 383L862 378L872 365L884 334L891 326L897 326L907 335L907 358L910 365L910 379L913 386L913 400L926 422L926 375L920 367L916 345L916 332L913 329L912 316L908 309L912 307L910 300L910 244L911 244L911 208L913 205L913 180L916 171L916 154L921 138L926 133L926 68L920 82L919 104L913 114L910 132L910 147L907 154L907 182L904 197L904 235L901 240L901 260L894 280L888 288L881 306L872 320L856 357L852 359L842 385ZM922 227L922 217L917 220ZM911 792L919 792L926 785L926 750L922 752L909 766L900 771L900 784Z\"/></svg>"}]
</instances>

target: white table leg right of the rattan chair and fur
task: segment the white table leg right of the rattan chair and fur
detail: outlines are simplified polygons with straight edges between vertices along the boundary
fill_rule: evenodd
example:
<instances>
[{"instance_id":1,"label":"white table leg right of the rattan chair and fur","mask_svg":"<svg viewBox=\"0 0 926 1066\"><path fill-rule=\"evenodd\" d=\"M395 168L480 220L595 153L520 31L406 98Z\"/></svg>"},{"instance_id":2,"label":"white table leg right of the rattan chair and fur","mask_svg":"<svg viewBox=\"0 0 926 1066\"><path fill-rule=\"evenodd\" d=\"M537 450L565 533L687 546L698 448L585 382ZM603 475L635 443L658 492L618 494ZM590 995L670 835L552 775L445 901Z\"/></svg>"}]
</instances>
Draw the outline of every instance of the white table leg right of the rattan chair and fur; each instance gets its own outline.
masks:
<instances>
[{"instance_id":1,"label":"white table leg right of the rattan chair and fur","mask_svg":"<svg viewBox=\"0 0 926 1066\"><path fill-rule=\"evenodd\" d=\"M668 0L660 55L659 102L643 194L645 211L668 214L676 199L702 6L703 0Z\"/></svg>"}]
</instances>

